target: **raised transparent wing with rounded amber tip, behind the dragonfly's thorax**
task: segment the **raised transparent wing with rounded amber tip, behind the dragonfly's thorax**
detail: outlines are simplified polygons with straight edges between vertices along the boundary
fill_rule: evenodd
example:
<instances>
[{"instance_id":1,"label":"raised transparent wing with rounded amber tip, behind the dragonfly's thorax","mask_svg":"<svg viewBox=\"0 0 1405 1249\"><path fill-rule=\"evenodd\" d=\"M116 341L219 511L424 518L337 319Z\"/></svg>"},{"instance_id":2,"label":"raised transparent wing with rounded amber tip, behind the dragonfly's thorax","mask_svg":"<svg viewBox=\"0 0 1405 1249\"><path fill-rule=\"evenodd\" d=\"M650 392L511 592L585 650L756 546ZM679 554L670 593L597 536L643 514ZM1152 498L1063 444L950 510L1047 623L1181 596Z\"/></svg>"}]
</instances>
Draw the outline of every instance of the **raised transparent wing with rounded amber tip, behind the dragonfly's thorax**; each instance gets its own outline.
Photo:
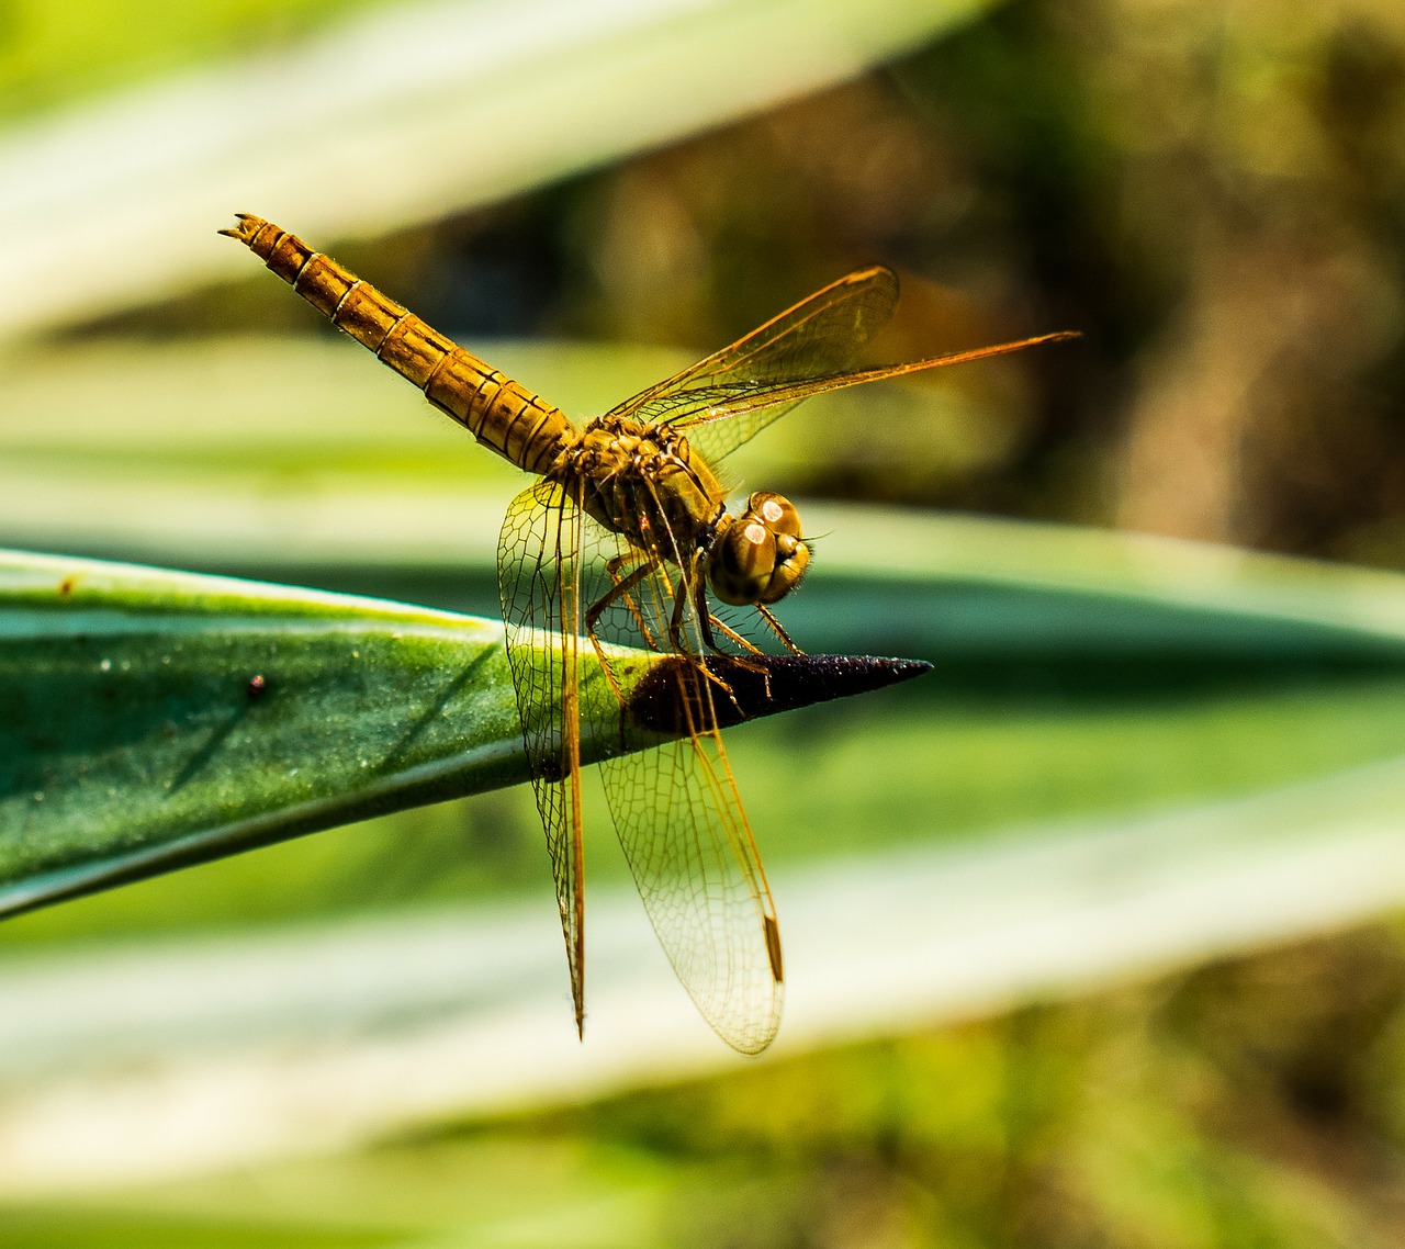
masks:
<instances>
[{"instance_id":1,"label":"raised transparent wing with rounded amber tip, behind the dragonfly's thorax","mask_svg":"<svg viewBox=\"0 0 1405 1249\"><path fill-rule=\"evenodd\" d=\"M843 372L868 340L891 319L898 306L898 278L892 270L863 268L788 308L780 316L752 330L745 339L688 365L611 413L645 421L691 426L694 420L715 421L717 395L738 389L764 393L781 382ZM710 431L705 448L721 458L788 412L798 399L776 399L732 417L725 434ZM690 441L693 436L688 436Z\"/></svg>"}]
</instances>

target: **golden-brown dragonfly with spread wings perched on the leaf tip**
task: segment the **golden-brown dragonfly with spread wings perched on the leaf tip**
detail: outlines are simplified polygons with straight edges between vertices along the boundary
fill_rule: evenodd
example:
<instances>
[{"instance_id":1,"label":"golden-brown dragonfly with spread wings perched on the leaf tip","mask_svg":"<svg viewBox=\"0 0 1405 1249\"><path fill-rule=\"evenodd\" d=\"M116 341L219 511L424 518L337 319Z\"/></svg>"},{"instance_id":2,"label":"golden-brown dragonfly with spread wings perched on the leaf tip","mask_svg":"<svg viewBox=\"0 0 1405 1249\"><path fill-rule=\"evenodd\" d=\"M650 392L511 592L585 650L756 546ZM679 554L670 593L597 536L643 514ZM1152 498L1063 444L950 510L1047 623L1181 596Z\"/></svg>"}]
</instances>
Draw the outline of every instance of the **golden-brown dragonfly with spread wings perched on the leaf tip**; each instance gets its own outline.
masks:
<instances>
[{"instance_id":1,"label":"golden-brown dragonfly with spread wings perched on the leaf tip","mask_svg":"<svg viewBox=\"0 0 1405 1249\"><path fill-rule=\"evenodd\" d=\"M780 1026L784 972L766 872L719 725L732 672L764 672L746 625L799 655L771 608L811 558L794 504L753 493L731 511L715 471L802 399L1072 337L1044 334L906 364L856 370L892 316L898 281L873 267L840 278L745 339L582 426L430 329L287 230L239 214L221 230L485 447L532 473L497 548L528 767L547 832L576 1028L584 1027L582 724L621 698L614 642L676 656L674 740L600 764L620 844L649 919L704 1019L757 1054ZM583 646L607 681L583 680ZM719 674L721 673L721 674ZM618 711L618 708L615 708Z\"/></svg>"}]
</instances>

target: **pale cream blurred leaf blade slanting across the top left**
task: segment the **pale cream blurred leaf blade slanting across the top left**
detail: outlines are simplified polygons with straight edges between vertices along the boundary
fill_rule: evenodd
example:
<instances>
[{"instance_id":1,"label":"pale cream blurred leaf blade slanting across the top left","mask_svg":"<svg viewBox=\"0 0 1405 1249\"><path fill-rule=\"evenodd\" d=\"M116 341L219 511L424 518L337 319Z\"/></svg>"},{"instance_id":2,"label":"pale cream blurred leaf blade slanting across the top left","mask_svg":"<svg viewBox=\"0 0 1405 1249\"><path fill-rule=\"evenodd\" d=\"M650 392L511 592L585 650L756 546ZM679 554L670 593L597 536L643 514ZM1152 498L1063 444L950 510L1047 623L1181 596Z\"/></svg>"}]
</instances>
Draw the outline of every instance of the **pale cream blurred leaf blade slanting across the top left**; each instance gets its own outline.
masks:
<instances>
[{"instance_id":1,"label":"pale cream blurred leaf blade slanting across the top left","mask_svg":"<svg viewBox=\"0 0 1405 1249\"><path fill-rule=\"evenodd\" d=\"M436 0L257 41L0 136L0 336L244 275L212 235L233 211L327 246L434 221L853 77L982 7Z\"/></svg>"}]
</instances>

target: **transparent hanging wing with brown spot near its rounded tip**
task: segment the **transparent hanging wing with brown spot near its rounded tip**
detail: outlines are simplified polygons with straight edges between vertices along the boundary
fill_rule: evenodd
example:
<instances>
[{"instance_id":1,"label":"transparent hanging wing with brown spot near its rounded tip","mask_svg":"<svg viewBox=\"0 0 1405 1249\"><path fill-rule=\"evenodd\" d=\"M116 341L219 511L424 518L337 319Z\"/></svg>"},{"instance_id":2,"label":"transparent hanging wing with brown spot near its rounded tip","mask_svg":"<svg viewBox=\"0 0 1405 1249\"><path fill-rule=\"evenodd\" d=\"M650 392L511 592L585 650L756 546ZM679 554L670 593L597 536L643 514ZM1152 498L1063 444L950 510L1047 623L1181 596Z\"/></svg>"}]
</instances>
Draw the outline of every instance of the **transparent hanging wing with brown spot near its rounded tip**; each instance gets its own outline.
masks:
<instances>
[{"instance_id":1,"label":"transparent hanging wing with brown spot near its rounded tip","mask_svg":"<svg viewBox=\"0 0 1405 1249\"><path fill-rule=\"evenodd\" d=\"M649 511L639 507L635 514ZM670 534L651 535L645 551L589 517L586 527L586 545L599 541L614 556L613 582L631 583L601 615L596 636L677 655L665 679L679 740L600 764L615 832L659 943L698 1010L728 1044L757 1054L780 1027L780 929L718 732L715 700L728 694L701 659L698 597L680 572L688 562ZM674 648L670 624L680 603ZM608 649L603 659L610 663ZM608 688L597 683L583 697L607 697ZM632 743L628 725L621 739Z\"/></svg>"}]
</instances>

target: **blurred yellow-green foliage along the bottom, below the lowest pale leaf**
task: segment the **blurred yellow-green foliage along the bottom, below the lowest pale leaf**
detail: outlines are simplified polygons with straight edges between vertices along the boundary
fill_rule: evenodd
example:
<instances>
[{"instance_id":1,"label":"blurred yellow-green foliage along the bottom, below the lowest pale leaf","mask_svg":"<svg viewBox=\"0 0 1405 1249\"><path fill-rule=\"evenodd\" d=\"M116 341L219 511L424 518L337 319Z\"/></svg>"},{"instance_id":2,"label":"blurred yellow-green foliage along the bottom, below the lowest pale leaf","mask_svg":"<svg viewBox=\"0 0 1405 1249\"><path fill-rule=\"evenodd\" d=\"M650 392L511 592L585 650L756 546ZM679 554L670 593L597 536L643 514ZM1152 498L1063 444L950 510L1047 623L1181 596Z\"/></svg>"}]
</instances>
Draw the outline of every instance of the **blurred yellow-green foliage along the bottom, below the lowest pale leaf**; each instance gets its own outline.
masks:
<instances>
[{"instance_id":1,"label":"blurred yellow-green foliage along the bottom, below the lowest pale leaf","mask_svg":"<svg viewBox=\"0 0 1405 1249\"><path fill-rule=\"evenodd\" d=\"M0 1245L1360 1249L1405 1201L1405 934L1352 934L334 1159Z\"/></svg>"}]
</instances>

